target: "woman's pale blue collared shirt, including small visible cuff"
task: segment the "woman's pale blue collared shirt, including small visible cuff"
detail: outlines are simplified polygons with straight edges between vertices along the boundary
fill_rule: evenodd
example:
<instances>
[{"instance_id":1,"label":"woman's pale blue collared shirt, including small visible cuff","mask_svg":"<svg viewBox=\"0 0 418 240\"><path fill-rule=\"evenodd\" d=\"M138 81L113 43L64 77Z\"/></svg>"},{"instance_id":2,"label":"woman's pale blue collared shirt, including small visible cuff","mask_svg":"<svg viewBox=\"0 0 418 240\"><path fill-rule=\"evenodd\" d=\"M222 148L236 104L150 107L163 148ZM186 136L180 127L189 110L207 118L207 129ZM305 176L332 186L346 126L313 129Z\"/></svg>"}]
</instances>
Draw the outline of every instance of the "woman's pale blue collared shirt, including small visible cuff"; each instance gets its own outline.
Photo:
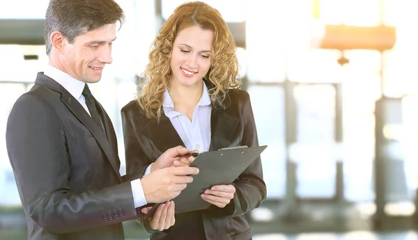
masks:
<instances>
[{"instance_id":1,"label":"woman's pale blue collared shirt, including small visible cuff","mask_svg":"<svg viewBox=\"0 0 418 240\"><path fill-rule=\"evenodd\" d=\"M203 83L203 94L193 111L192 121L187 118L187 115L174 110L173 99L167 88L162 95L162 108L187 149L208 152L212 105L206 84ZM150 173L151 165L152 163L146 168L144 175Z\"/></svg>"}]
</instances>

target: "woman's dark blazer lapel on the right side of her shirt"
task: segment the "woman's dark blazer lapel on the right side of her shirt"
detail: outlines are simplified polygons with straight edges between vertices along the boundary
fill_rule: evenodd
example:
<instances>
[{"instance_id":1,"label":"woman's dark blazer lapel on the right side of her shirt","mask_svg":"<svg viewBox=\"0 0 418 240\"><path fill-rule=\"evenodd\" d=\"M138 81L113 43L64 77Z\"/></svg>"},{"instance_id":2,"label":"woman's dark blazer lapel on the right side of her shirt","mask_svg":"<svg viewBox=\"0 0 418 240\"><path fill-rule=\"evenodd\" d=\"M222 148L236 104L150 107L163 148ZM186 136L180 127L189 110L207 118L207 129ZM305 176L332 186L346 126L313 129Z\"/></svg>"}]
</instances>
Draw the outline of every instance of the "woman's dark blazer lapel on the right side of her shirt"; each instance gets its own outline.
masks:
<instances>
[{"instance_id":1,"label":"woman's dark blazer lapel on the right side of her shirt","mask_svg":"<svg viewBox=\"0 0 418 240\"><path fill-rule=\"evenodd\" d=\"M222 147L230 147L235 131L240 122L237 111L230 107L228 95L219 106L213 106L210 115L210 151L217 151Z\"/></svg>"}]
</instances>

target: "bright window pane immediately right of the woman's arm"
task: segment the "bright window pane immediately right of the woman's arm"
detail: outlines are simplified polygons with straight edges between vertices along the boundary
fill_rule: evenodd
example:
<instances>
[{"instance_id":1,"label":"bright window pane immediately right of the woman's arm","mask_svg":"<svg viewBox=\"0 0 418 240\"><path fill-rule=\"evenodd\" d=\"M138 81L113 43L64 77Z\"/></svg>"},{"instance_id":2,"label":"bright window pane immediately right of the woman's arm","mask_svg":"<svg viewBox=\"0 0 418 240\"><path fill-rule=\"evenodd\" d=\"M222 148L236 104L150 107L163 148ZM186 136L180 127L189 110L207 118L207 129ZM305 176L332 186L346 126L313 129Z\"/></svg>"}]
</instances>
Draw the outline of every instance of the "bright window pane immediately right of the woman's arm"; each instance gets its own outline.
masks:
<instances>
[{"instance_id":1,"label":"bright window pane immediately right of the woman's arm","mask_svg":"<svg viewBox=\"0 0 418 240\"><path fill-rule=\"evenodd\" d=\"M286 147L284 127L284 91L279 86L249 86L251 105L260 145L268 145L261 154L263 177L268 198L283 198L286 193ZM268 96L270 104L266 104Z\"/></svg>"}]
</instances>

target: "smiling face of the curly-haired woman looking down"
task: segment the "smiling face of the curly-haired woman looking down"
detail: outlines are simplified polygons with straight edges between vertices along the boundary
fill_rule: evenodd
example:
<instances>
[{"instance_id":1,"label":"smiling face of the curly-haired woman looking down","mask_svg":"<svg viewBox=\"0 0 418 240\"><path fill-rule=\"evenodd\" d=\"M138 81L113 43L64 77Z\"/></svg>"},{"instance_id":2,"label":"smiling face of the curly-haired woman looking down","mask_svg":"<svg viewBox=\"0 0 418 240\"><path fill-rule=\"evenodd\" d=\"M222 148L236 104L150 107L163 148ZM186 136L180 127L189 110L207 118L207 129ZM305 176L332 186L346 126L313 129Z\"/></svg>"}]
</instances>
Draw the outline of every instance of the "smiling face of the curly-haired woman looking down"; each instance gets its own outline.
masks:
<instances>
[{"instance_id":1,"label":"smiling face of the curly-haired woman looking down","mask_svg":"<svg viewBox=\"0 0 418 240\"><path fill-rule=\"evenodd\" d=\"M174 40L171 53L171 80L183 86L202 81L210 68L213 33L200 26L189 26Z\"/></svg>"}]
</instances>

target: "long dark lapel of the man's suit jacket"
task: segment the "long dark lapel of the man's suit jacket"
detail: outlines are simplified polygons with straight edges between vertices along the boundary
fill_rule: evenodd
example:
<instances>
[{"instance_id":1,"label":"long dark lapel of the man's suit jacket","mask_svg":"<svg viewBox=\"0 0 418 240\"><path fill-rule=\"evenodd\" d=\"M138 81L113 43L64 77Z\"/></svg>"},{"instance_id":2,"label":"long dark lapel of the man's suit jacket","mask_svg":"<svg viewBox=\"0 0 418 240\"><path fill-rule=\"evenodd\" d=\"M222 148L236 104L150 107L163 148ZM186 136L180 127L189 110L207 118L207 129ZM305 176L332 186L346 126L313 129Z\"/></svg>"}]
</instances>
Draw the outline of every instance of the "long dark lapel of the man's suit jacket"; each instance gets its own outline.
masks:
<instances>
[{"instance_id":1,"label":"long dark lapel of the man's suit jacket","mask_svg":"<svg viewBox=\"0 0 418 240\"><path fill-rule=\"evenodd\" d=\"M77 99L72 97L72 95L68 93L68 91L65 90L65 88L63 88L63 86L61 86L59 83L57 83L53 79L50 79L49 77L45 76L42 73L38 73L38 77L36 78L36 83L41 84L49 89L52 89L54 91L61 93L61 102L63 102L63 104L67 106L68 110L70 110L70 112L73 115L75 115L75 117L80 122L82 122L84 126L86 126L88 131L90 131L91 134L96 139L96 141L98 141L104 154L106 154L107 159L109 159L109 162L111 163L111 166L114 169L116 175L122 182L122 177L121 177L121 174L119 173L119 168L118 168L118 163L117 163L118 161L115 158L115 155L112 154L112 148L109 145L109 141L107 141L107 138L102 132L102 130L99 129L98 125L94 122L93 118L91 118L91 116L88 115L86 110L84 110L83 106L79 104ZM103 121L103 122L106 122L106 121ZM109 131L107 127L106 127L107 129L106 131Z\"/></svg>"}]
</instances>

